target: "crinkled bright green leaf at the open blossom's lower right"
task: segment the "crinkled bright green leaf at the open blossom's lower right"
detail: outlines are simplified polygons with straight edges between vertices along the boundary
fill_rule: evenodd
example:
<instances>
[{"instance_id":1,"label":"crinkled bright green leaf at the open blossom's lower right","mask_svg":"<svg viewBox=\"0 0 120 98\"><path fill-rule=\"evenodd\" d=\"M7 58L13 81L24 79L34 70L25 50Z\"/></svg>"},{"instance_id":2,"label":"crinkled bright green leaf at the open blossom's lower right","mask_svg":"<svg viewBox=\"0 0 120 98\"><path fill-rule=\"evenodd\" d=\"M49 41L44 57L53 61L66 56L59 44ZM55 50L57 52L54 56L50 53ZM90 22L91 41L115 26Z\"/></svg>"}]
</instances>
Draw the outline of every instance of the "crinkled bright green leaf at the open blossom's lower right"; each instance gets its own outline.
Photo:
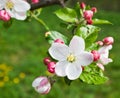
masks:
<instances>
[{"instance_id":1,"label":"crinkled bright green leaf at the open blossom's lower right","mask_svg":"<svg viewBox=\"0 0 120 98\"><path fill-rule=\"evenodd\" d=\"M108 78L103 75L103 72L96 66L86 66L80 75L80 80L87 84L103 84Z\"/></svg>"}]
</instances>

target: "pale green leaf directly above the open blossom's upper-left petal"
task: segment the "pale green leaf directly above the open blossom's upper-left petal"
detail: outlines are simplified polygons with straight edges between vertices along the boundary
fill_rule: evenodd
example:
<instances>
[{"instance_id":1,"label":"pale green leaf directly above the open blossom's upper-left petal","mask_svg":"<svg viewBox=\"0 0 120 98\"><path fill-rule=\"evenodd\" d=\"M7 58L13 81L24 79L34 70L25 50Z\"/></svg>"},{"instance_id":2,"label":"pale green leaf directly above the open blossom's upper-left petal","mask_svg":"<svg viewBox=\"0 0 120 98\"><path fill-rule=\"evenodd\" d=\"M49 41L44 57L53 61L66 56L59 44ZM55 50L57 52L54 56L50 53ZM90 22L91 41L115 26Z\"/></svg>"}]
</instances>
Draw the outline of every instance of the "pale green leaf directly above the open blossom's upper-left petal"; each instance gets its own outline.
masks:
<instances>
[{"instance_id":1,"label":"pale green leaf directly above the open blossom's upper-left petal","mask_svg":"<svg viewBox=\"0 0 120 98\"><path fill-rule=\"evenodd\" d=\"M47 41L52 44L54 40L61 39L67 44L67 37L57 31L49 31L50 33L46 36Z\"/></svg>"}]
</instances>

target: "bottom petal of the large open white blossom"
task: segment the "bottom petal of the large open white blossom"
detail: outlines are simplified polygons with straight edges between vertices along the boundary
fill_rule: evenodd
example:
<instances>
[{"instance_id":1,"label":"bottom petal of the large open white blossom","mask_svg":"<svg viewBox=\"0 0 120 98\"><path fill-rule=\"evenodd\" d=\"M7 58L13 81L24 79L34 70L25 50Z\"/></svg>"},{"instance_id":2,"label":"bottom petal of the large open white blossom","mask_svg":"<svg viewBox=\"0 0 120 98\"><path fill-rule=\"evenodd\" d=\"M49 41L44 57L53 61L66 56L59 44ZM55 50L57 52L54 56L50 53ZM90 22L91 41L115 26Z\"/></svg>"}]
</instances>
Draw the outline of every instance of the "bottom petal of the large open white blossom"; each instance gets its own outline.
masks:
<instances>
[{"instance_id":1,"label":"bottom petal of the large open white blossom","mask_svg":"<svg viewBox=\"0 0 120 98\"><path fill-rule=\"evenodd\" d=\"M66 68L66 74L69 80L75 80L79 78L80 74L82 73L81 66L76 66L74 63L71 63Z\"/></svg>"}]
</instances>

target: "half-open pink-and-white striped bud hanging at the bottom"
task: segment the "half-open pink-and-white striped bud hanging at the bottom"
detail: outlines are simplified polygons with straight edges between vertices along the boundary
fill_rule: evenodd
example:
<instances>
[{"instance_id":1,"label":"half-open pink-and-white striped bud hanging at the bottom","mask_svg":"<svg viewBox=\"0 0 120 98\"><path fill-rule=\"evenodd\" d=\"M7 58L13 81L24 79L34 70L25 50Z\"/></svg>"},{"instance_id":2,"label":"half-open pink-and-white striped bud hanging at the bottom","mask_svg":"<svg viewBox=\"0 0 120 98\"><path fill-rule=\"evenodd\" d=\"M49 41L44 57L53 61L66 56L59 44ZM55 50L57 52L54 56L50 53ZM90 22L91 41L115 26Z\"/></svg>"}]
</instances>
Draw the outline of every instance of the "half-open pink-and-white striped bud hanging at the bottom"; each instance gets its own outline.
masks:
<instances>
[{"instance_id":1,"label":"half-open pink-and-white striped bud hanging at the bottom","mask_svg":"<svg viewBox=\"0 0 120 98\"><path fill-rule=\"evenodd\" d=\"M33 81L32 87L40 94L47 94L51 89L51 84L47 77L40 76Z\"/></svg>"}]
</instances>

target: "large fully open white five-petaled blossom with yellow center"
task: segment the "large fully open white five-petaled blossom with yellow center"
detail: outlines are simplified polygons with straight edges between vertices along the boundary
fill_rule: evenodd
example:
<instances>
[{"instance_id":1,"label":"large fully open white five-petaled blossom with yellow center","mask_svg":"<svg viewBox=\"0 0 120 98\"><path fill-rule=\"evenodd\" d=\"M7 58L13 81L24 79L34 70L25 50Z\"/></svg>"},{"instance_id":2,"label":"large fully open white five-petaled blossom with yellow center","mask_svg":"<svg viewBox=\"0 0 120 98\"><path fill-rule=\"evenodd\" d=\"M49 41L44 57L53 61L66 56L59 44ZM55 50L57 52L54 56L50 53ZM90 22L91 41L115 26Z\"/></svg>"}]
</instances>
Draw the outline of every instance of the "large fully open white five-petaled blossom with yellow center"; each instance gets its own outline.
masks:
<instances>
[{"instance_id":1,"label":"large fully open white five-petaled blossom with yellow center","mask_svg":"<svg viewBox=\"0 0 120 98\"><path fill-rule=\"evenodd\" d=\"M50 55L58 60L55 73L58 76L67 76L70 80L79 78L82 67L93 62L93 55L85 49L83 38L74 36L69 44L53 43L49 49Z\"/></svg>"}]
</instances>

